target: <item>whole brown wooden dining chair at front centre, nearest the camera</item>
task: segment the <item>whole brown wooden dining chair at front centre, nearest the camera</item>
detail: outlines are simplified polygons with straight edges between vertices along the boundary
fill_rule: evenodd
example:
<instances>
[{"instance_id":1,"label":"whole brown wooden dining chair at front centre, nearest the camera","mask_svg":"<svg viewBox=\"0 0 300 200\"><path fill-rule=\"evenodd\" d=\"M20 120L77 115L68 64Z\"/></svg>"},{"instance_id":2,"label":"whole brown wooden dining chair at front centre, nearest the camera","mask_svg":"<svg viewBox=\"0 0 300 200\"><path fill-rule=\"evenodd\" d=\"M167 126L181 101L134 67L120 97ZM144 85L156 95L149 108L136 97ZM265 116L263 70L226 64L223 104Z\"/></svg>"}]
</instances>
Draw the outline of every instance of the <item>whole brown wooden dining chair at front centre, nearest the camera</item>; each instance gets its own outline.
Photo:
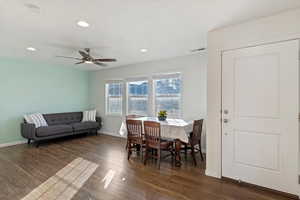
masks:
<instances>
[{"instance_id":1,"label":"whole brown wooden dining chair at front centre, nearest the camera","mask_svg":"<svg viewBox=\"0 0 300 200\"><path fill-rule=\"evenodd\" d=\"M147 164L147 160L149 157L156 158L158 161L158 169L160 169L162 151L169 151L173 160L173 141L162 140L160 123L153 121L144 121L144 133L146 138L146 153L144 160L145 165ZM156 150L157 154L150 154L150 150Z\"/></svg>"}]
</instances>

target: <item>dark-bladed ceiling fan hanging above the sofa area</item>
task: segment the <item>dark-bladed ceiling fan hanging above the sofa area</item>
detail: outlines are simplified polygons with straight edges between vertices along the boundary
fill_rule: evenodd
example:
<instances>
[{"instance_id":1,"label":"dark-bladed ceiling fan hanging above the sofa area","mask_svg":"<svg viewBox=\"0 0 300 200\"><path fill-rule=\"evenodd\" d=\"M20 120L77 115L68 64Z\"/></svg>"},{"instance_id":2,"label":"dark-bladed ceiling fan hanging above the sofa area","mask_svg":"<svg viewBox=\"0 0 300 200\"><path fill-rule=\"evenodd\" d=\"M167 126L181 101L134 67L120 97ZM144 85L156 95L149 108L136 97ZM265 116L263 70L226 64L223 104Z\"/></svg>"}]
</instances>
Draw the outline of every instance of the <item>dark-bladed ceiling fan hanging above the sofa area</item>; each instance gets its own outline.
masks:
<instances>
[{"instance_id":1,"label":"dark-bladed ceiling fan hanging above the sofa area","mask_svg":"<svg viewBox=\"0 0 300 200\"><path fill-rule=\"evenodd\" d=\"M87 64L99 65L102 67L107 66L106 64L104 64L104 62L116 62L117 61L114 58L93 58L90 55L90 51L91 50L89 48L85 48L83 51L79 50L78 53L81 55L81 58L75 58L75 57L69 57L69 56L56 56L56 57L79 60L79 62L75 63L76 65L87 63Z\"/></svg>"}]
</instances>

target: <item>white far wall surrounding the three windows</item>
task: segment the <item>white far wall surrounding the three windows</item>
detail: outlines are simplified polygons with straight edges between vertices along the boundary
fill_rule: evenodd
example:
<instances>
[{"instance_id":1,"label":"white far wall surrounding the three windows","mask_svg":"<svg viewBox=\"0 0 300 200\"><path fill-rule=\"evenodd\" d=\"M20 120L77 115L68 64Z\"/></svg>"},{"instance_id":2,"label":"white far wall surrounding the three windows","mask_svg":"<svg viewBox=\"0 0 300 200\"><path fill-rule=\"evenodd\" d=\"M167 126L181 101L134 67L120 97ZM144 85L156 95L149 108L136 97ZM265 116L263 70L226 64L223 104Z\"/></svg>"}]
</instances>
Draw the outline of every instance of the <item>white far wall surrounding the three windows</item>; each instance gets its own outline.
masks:
<instances>
[{"instance_id":1,"label":"white far wall surrounding the three windows","mask_svg":"<svg viewBox=\"0 0 300 200\"><path fill-rule=\"evenodd\" d=\"M142 55L141 55L142 56ZM187 120L206 116L206 55L194 54L173 59L140 63L92 72L90 103L103 117L103 133L118 135L122 117L105 116L105 81L134 77L150 77L160 73L181 72L182 111Z\"/></svg>"}]
</instances>

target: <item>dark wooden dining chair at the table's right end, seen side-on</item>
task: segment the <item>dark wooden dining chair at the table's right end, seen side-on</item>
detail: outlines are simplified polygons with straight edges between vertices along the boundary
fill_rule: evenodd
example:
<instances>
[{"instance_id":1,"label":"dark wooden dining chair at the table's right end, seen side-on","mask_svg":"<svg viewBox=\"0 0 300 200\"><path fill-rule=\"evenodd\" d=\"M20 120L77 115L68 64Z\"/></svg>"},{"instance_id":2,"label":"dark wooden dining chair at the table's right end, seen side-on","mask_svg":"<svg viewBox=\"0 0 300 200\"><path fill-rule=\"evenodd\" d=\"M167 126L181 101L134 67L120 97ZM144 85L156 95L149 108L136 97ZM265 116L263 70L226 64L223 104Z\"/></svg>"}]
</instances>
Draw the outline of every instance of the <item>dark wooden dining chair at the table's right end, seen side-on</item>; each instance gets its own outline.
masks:
<instances>
[{"instance_id":1,"label":"dark wooden dining chair at the table's right end, seen side-on","mask_svg":"<svg viewBox=\"0 0 300 200\"><path fill-rule=\"evenodd\" d=\"M202 135L203 121L204 121L203 119L194 120L193 132L190 133L189 143L184 145L184 150L186 155L187 155L187 150L188 149L191 150L191 155L195 166L197 166L196 155L195 155L196 152L200 153L201 160L204 161L202 148L201 148L201 135Z\"/></svg>"}]
</instances>

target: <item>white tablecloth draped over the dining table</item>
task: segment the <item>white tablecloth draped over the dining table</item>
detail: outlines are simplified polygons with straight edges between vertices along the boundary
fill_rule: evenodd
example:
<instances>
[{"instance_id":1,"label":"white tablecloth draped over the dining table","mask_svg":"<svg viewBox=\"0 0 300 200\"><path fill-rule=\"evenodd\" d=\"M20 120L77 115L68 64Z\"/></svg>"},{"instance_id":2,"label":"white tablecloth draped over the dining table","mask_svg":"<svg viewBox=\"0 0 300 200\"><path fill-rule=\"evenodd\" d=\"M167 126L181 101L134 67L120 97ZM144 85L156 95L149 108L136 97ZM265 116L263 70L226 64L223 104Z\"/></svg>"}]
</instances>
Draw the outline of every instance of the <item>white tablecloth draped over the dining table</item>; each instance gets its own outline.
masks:
<instances>
[{"instance_id":1,"label":"white tablecloth draped over the dining table","mask_svg":"<svg viewBox=\"0 0 300 200\"><path fill-rule=\"evenodd\" d=\"M170 139L179 139L182 142L188 143L189 133L193 131L193 122L186 122L182 119L167 119L166 121L159 121L155 117L140 117L135 120L141 121L155 121L161 125L161 137ZM120 128L120 135L127 135L126 122L123 121Z\"/></svg>"}]
</instances>

